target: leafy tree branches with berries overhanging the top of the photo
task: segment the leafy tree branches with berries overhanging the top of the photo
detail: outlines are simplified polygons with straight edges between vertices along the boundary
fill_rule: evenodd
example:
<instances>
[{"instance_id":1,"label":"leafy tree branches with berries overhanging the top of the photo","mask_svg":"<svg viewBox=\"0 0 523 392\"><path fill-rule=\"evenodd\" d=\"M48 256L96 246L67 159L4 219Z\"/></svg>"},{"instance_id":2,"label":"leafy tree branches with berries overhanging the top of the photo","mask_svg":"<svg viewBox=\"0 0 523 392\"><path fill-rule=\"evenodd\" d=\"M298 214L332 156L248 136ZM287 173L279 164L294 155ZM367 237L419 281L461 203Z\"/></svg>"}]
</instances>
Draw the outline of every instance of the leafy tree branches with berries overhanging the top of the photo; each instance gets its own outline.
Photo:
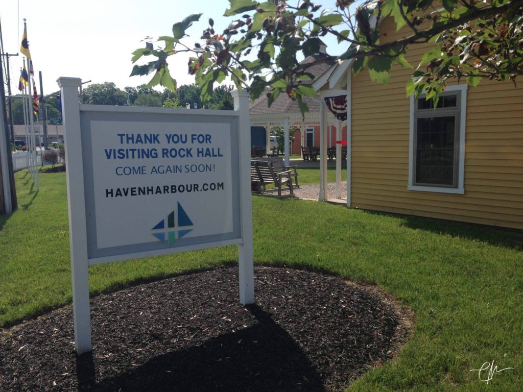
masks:
<instances>
[{"instance_id":1,"label":"leafy tree branches with berries overhanging the top of the photo","mask_svg":"<svg viewBox=\"0 0 523 392\"><path fill-rule=\"evenodd\" d=\"M316 1L229 0L224 15L232 17L218 30L209 19L201 40L189 47L186 30L200 19L194 14L173 25L173 35L159 37L133 52L132 75L153 74L147 84L176 89L167 58L191 52L189 74L201 87L201 98L209 99L213 84L230 77L238 88L247 88L252 98L268 94L269 105L280 93L297 99L302 112L308 110L302 98L314 96L308 70L314 62L303 57L319 50L321 37L333 34L345 52L318 61L352 60L358 74L368 69L381 83L389 80L393 63L416 68L406 86L407 95L422 92L437 99L449 79L465 79L476 86L483 78L516 80L523 74L523 0L337 0L334 9L322 9ZM403 38L385 41L381 21L392 18ZM419 64L409 64L407 50L427 44Z\"/></svg>"}]
</instances>

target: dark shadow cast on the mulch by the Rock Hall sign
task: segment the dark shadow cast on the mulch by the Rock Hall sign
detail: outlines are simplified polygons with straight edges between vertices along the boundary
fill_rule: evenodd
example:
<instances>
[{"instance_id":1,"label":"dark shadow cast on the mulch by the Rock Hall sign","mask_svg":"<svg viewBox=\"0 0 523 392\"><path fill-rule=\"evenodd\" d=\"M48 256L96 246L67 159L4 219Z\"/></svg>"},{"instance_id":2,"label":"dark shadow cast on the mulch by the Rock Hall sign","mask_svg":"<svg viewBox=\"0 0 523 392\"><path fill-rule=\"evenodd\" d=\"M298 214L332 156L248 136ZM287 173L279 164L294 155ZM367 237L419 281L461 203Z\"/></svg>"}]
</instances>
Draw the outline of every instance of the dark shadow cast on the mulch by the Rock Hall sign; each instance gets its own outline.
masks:
<instances>
[{"instance_id":1,"label":"dark shadow cast on the mulch by the Rock Hall sign","mask_svg":"<svg viewBox=\"0 0 523 392\"><path fill-rule=\"evenodd\" d=\"M98 382L96 358L83 354L77 359L78 390L325 390L322 377L288 332L257 305L247 309L258 321L252 327L158 355Z\"/></svg>"}]
</instances>

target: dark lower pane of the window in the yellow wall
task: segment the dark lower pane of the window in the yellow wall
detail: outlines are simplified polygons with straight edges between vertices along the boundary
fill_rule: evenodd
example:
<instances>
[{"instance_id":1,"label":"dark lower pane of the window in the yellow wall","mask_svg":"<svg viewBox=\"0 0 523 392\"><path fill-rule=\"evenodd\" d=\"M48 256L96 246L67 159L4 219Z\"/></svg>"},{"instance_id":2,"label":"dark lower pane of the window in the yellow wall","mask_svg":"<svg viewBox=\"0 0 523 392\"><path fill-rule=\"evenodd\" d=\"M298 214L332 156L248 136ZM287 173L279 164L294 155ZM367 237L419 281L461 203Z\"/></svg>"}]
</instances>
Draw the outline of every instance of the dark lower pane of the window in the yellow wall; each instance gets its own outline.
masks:
<instances>
[{"instance_id":1,"label":"dark lower pane of the window in the yellow wall","mask_svg":"<svg viewBox=\"0 0 523 392\"><path fill-rule=\"evenodd\" d=\"M416 182L453 185L456 117L418 118L416 125Z\"/></svg>"}]
</instances>

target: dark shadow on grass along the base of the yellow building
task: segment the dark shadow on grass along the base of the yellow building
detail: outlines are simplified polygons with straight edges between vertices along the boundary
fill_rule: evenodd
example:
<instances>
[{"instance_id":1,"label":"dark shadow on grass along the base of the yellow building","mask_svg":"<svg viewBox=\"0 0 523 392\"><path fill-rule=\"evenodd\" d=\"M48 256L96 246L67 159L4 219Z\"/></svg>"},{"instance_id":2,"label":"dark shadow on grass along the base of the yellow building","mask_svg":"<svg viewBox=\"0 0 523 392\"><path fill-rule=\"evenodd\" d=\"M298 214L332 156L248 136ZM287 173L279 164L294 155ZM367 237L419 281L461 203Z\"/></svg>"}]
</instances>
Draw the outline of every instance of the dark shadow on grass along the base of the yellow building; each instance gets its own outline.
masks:
<instances>
[{"instance_id":1,"label":"dark shadow on grass along the base of the yellow building","mask_svg":"<svg viewBox=\"0 0 523 392\"><path fill-rule=\"evenodd\" d=\"M523 250L523 230L476 225L472 223L445 221L435 218L424 218L420 216L383 213L380 211L366 211L369 214L386 215L400 218L402 226L415 230L449 235L478 241L480 243Z\"/></svg>"}]
</instances>

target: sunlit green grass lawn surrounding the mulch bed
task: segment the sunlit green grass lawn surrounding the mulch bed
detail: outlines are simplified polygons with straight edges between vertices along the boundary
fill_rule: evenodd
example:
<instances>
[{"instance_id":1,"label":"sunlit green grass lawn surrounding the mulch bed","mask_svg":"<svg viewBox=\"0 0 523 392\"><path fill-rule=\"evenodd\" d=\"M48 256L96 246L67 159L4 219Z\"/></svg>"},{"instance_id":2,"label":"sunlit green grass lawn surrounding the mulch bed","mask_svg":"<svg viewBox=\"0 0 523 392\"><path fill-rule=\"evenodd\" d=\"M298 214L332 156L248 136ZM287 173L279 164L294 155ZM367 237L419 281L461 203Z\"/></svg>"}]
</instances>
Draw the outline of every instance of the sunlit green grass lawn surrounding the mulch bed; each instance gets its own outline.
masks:
<instances>
[{"instance_id":1,"label":"sunlit green grass lawn surrounding the mulch bed","mask_svg":"<svg viewBox=\"0 0 523 392\"><path fill-rule=\"evenodd\" d=\"M0 216L3 327L71 302L65 175L41 174L38 193L26 171L16 179L19 210ZM351 391L523 390L523 234L263 196L253 197L253 217L256 263L376 283L413 309L415 330L400 356ZM235 247L224 247L93 266L90 290L236 258ZM469 372L486 361L514 370L487 385Z\"/></svg>"}]
</instances>

